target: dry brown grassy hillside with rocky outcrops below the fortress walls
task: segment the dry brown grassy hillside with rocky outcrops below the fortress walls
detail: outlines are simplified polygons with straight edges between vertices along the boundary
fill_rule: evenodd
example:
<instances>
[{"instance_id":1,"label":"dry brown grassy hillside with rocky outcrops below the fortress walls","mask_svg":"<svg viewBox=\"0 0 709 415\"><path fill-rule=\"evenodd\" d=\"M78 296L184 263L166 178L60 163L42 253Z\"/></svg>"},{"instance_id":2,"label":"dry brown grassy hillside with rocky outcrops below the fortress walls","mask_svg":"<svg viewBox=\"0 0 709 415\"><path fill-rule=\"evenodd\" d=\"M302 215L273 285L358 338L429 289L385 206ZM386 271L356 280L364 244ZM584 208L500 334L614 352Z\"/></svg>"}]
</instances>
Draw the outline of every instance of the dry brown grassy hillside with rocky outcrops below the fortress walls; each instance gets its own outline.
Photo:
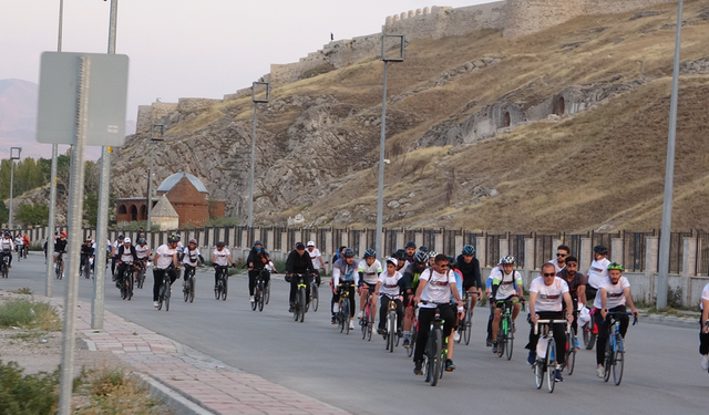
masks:
<instances>
[{"instance_id":1,"label":"dry brown grassy hillside with rocky outcrops below the fortress walls","mask_svg":"<svg viewBox=\"0 0 709 415\"><path fill-rule=\"evenodd\" d=\"M386 226L659 228L675 10L578 18L513 40L486 30L410 42L389 70ZM707 19L709 0L686 3L675 229L709 229ZM372 228L382 63L312 74L259 106L256 222L302 214L307 225ZM166 115L156 184L184 169L243 215L251 112L245 97ZM119 197L144 194L147 138L116 151Z\"/></svg>"}]
</instances>

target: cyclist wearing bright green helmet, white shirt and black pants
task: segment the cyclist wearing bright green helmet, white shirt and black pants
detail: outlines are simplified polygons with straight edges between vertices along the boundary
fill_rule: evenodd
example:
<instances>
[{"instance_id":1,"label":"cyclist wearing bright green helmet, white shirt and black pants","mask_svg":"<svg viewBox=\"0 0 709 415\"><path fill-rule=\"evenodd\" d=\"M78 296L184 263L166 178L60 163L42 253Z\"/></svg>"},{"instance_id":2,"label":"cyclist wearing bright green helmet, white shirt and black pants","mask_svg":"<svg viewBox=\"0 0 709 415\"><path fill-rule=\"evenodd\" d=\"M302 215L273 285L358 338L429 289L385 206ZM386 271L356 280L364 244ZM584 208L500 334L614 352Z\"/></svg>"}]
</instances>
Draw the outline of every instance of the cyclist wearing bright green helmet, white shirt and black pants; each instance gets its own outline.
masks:
<instances>
[{"instance_id":1,"label":"cyclist wearing bright green helmet, white shirt and black pants","mask_svg":"<svg viewBox=\"0 0 709 415\"><path fill-rule=\"evenodd\" d=\"M600 281L598 294L594 301L594 308L597 309L594 313L594 320L598 328L598 336L596 338L596 375L598 377L604 376L603 361L608 341L608 324L610 323L610 319L606 319L606 317L609 312L618 313L616 320L620 322L620 335L625 339L629 323L629 319L625 314L626 304L630 305L630 312L637 318L638 311L635 309L630 295L630 282L623 277L623 266L618 262L610 262L608 263L608 277Z\"/></svg>"}]
</instances>

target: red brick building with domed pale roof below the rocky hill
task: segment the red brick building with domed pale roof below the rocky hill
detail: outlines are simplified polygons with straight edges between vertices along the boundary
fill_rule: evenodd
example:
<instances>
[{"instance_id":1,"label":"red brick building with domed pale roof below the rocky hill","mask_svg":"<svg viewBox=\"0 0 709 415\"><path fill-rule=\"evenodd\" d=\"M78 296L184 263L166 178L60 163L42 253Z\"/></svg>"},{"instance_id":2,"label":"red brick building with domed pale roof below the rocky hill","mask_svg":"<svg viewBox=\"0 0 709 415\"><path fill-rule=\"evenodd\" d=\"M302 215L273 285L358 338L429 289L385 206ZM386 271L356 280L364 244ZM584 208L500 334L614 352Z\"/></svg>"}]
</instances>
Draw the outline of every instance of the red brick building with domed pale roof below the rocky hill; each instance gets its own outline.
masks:
<instances>
[{"instance_id":1,"label":"red brick building with domed pale roof below the rocky hill","mask_svg":"<svg viewBox=\"0 0 709 415\"><path fill-rule=\"evenodd\" d=\"M153 197L153 208L162 196L165 196L179 215L179 226L189 224L203 227L212 218L223 218L225 203L209 200L209 193L204 184L188 173L175 173L157 187L157 197ZM147 220L147 199L144 197L123 198L116 200L116 221L132 222Z\"/></svg>"}]
</instances>

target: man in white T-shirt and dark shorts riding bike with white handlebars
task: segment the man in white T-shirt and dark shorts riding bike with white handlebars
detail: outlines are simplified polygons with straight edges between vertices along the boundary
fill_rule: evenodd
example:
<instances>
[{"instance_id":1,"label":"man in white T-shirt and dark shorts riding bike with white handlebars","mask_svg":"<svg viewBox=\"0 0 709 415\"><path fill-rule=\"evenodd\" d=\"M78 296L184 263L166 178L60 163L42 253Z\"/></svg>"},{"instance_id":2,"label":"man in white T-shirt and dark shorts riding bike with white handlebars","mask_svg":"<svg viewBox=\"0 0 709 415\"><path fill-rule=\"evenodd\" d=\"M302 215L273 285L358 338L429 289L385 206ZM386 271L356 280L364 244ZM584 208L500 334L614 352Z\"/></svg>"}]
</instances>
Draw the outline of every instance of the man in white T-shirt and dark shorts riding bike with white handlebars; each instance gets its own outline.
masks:
<instances>
[{"instance_id":1,"label":"man in white T-shirt and dark shorts riding bike with white handlebars","mask_svg":"<svg viewBox=\"0 0 709 415\"><path fill-rule=\"evenodd\" d=\"M564 312L565 304L566 312ZM553 263L542 266L542 274L535 278L530 284L530 343L525 349L530 350L527 363L533 364L536 359L536 344L540 341L540 333L534 333L534 324L540 320L564 320L574 321L572 310L572 297L568 293L568 284L563 279L556 277L556 267ZM552 324L554 342L556 343L556 361L564 366L566 360L566 330L563 324ZM556 370L556 382L564 382L562 370Z\"/></svg>"}]
</instances>

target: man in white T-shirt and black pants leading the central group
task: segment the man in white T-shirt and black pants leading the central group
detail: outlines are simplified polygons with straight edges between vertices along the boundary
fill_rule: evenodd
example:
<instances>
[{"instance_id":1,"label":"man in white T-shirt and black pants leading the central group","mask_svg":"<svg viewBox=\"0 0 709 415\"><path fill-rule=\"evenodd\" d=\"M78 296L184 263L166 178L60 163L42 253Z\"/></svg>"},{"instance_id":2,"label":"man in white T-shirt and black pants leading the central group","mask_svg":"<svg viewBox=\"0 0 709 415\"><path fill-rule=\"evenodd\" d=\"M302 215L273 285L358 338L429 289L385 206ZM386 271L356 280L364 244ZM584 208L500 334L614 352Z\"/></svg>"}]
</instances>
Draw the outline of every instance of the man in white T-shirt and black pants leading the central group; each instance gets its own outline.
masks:
<instances>
[{"instance_id":1,"label":"man in white T-shirt and black pants leading the central group","mask_svg":"<svg viewBox=\"0 0 709 415\"><path fill-rule=\"evenodd\" d=\"M445 322L443 324L443 338L448 344L445 370L449 372L455 370L453 364L453 328L455 326L456 310L450 303L451 295L459 307L463 305L463 300L455 287L455 272L451 272L449 269L448 257L440 253L435 257L433 268L424 270L419 277L419 287L414 295L414 301L419 303L419 336L413 352L413 373L417 375L423 374L421 363L436 308L440 310L441 319Z\"/></svg>"}]
</instances>

